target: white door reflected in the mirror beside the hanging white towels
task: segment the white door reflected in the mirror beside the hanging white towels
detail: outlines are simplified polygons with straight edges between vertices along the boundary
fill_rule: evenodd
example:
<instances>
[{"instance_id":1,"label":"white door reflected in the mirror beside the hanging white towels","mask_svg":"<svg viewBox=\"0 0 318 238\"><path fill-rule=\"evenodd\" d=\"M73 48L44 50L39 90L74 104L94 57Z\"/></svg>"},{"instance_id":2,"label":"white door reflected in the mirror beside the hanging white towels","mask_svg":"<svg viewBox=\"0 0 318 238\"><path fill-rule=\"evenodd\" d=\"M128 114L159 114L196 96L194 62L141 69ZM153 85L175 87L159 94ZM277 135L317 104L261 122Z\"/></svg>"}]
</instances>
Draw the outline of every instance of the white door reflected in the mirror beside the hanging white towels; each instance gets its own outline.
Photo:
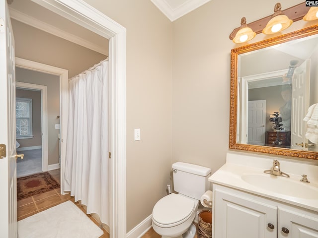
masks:
<instances>
[{"instance_id":1,"label":"white door reflected in the mirror beside the hanging white towels","mask_svg":"<svg viewBox=\"0 0 318 238\"><path fill-rule=\"evenodd\" d=\"M309 85L310 85L310 60L304 61L296 68L292 81L292 122L291 122L291 148L302 149L308 144L306 139L306 116L309 108ZM297 145L297 144L299 145ZM303 143L303 147L300 145Z\"/></svg>"}]
</instances>

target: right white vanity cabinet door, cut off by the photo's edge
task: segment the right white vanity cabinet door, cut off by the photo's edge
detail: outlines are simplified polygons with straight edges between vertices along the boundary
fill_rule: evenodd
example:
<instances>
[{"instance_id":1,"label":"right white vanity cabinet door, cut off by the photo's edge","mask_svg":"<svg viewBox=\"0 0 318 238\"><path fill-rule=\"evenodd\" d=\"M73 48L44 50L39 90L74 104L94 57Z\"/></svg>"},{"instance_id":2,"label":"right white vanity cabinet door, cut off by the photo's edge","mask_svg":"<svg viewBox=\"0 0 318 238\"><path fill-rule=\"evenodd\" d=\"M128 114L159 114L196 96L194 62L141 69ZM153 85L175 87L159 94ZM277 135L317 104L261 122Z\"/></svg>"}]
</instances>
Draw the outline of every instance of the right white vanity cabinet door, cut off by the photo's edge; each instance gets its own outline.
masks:
<instances>
[{"instance_id":1,"label":"right white vanity cabinet door, cut off by the photo's edge","mask_svg":"<svg viewBox=\"0 0 318 238\"><path fill-rule=\"evenodd\" d=\"M318 212L279 207L278 225L278 238L318 238Z\"/></svg>"}]
</instances>

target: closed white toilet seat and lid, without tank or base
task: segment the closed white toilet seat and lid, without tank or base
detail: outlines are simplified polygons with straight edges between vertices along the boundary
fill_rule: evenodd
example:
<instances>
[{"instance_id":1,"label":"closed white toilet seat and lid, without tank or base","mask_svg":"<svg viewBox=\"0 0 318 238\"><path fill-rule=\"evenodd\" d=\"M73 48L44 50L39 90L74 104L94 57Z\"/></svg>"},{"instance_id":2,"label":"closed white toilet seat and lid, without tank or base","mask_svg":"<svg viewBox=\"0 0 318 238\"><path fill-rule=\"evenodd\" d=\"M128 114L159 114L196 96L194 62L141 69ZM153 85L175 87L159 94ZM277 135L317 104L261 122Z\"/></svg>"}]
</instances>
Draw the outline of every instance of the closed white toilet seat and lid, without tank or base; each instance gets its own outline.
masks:
<instances>
[{"instance_id":1,"label":"closed white toilet seat and lid, without tank or base","mask_svg":"<svg viewBox=\"0 0 318 238\"><path fill-rule=\"evenodd\" d=\"M160 227L173 227L186 221L195 209L195 201L171 193L161 198L153 209L153 222Z\"/></svg>"}]
</instances>

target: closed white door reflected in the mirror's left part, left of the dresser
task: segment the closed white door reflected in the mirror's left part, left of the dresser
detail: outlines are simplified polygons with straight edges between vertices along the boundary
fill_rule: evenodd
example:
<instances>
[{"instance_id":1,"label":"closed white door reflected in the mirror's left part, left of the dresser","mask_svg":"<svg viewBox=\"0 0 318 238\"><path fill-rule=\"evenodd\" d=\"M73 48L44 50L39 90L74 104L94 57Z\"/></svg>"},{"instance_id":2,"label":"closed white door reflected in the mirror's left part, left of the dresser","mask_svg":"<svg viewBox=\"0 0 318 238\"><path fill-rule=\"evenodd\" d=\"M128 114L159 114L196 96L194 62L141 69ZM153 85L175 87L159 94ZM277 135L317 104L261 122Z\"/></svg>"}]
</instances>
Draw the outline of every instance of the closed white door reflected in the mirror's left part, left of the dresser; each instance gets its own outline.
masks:
<instances>
[{"instance_id":1,"label":"closed white door reflected in the mirror's left part, left of the dresser","mask_svg":"<svg viewBox=\"0 0 318 238\"><path fill-rule=\"evenodd\" d=\"M265 145L266 100L248 101L247 142Z\"/></svg>"}]
</instances>

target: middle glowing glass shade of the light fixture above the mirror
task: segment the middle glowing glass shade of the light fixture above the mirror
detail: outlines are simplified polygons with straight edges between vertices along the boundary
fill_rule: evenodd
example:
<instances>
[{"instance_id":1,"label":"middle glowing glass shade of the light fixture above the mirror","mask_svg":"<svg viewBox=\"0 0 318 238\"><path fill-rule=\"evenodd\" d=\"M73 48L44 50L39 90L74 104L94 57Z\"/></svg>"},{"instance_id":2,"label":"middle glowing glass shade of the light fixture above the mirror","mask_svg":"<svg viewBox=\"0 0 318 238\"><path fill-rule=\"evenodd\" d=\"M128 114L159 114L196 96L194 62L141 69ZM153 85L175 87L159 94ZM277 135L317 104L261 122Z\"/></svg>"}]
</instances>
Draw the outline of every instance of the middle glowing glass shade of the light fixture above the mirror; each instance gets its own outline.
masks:
<instances>
[{"instance_id":1,"label":"middle glowing glass shade of the light fixture above the mirror","mask_svg":"<svg viewBox=\"0 0 318 238\"><path fill-rule=\"evenodd\" d=\"M270 35L279 31L283 31L290 27L290 25L293 23L293 20L289 19L281 9L281 4L279 2L276 3L274 7L274 14L263 29L264 34Z\"/></svg>"}]
</instances>

